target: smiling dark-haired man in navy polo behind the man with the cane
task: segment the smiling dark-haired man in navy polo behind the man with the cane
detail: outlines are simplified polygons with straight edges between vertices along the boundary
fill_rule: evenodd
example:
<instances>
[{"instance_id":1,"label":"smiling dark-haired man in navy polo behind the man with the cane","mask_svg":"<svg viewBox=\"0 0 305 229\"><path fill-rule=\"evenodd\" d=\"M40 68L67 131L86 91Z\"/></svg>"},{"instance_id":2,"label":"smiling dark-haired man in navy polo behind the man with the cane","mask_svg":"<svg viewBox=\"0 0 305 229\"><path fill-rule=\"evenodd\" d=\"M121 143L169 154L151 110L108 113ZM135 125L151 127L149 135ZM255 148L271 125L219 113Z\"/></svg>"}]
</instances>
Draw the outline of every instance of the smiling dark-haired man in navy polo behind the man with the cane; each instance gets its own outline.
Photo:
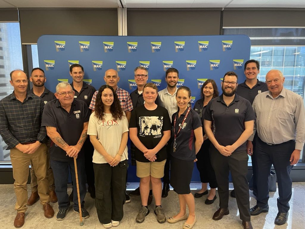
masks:
<instances>
[{"instance_id":1,"label":"smiling dark-haired man in navy polo behind the man with the cane","mask_svg":"<svg viewBox=\"0 0 305 229\"><path fill-rule=\"evenodd\" d=\"M70 84L72 89L74 90L74 98L78 100L83 100L87 107L90 106L90 102L95 93L95 88L87 83L83 82L84 79L84 68L80 64L72 64L70 66L70 75L73 79L73 82ZM90 139L84 143L85 153L85 170L88 184L88 192L92 198L95 198L95 186L94 186L94 171L93 171L93 163L92 156L94 147L92 146ZM70 200L73 200L73 191L70 194Z\"/></svg>"}]
</instances>

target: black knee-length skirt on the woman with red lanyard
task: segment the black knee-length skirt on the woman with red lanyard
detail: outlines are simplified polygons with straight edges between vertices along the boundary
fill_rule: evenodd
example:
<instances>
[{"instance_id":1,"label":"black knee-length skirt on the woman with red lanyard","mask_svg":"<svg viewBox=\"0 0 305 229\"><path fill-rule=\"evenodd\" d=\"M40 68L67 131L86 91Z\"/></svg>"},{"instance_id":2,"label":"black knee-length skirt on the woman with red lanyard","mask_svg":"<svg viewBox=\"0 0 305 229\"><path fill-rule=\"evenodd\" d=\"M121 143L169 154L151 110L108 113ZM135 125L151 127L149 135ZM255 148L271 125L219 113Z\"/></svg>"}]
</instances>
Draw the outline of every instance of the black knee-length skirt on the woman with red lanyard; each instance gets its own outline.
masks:
<instances>
[{"instance_id":1,"label":"black knee-length skirt on the woman with red lanyard","mask_svg":"<svg viewBox=\"0 0 305 229\"><path fill-rule=\"evenodd\" d=\"M190 183L193 169L194 161L170 157L170 185L178 194L191 193Z\"/></svg>"}]
</instances>

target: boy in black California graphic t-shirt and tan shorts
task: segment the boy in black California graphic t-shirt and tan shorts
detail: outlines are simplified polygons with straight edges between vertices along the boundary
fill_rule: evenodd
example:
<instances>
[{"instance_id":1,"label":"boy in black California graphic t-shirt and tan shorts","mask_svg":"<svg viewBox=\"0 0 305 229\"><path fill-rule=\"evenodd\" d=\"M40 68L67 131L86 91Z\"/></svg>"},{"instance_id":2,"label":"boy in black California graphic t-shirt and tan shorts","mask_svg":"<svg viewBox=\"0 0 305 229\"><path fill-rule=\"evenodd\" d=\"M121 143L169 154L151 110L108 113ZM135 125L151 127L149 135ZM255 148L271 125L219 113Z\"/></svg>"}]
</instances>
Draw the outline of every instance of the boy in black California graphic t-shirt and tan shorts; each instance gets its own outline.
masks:
<instances>
[{"instance_id":1,"label":"boy in black California graphic t-shirt and tan shorts","mask_svg":"<svg viewBox=\"0 0 305 229\"><path fill-rule=\"evenodd\" d=\"M164 175L167 158L165 144L170 139L171 125L168 111L155 104L157 95L158 89L155 84L145 84L145 104L132 111L129 123L130 139L136 146L137 176L140 177L142 208L136 217L138 223L142 223L149 214L147 201L150 181L156 202L157 220L159 223L166 221L161 207L161 178Z\"/></svg>"}]
</instances>

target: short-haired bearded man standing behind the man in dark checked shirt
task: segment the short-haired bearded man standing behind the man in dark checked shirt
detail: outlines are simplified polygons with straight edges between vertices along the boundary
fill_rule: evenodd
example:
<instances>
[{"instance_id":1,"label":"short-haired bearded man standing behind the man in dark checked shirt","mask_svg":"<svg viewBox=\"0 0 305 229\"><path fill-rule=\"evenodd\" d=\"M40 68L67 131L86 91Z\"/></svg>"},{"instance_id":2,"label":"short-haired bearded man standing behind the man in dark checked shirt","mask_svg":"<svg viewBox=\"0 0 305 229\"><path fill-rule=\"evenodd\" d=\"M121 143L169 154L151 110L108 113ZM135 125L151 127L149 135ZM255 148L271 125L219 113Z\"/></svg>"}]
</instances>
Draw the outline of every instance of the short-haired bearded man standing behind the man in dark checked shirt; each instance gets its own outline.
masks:
<instances>
[{"instance_id":1,"label":"short-haired bearded man standing behind the man in dark checked shirt","mask_svg":"<svg viewBox=\"0 0 305 229\"><path fill-rule=\"evenodd\" d=\"M30 82L33 83L33 88L30 89L29 93L34 94L36 96L41 97L43 102L46 104L48 101L56 99L53 92L49 91L45 87L45 82L47 78L45 77L45 72L39 68L35 67L32 69L31 76L30 76ZM49 149L50 149L50 143L49 139L47 137L46 145L48 147L48 181L49 181L49 196L51 198L51 202L55 203L57 202L57 196L55 193L55 184L54 184L54 176L53 171L50 164L50 155L49 155ZM27 205L33 205L39 200L38 195L38 189L37 189L37 177L35 175L35 171L33 166L31 165L31 190L32 193L30 195L30 198L27 201Z\"/></svg>"}]
</instances>

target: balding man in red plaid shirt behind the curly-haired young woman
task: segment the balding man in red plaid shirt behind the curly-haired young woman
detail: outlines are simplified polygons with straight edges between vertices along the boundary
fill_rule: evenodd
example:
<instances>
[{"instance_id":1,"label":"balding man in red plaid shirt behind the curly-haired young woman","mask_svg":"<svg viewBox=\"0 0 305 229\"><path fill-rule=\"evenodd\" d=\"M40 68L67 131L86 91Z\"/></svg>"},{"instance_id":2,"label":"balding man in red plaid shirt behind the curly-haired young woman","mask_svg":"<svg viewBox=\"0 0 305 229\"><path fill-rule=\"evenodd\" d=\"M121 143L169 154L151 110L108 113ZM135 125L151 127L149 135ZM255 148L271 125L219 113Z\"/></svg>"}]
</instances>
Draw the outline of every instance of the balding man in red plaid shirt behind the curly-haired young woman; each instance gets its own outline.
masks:
<instances>
[{"instance_id":1,"label":"balding man in red plaid shirt behind the curly-haired young woman","mask_svg":"<svg viewBox=\"0 0 305 229\"><path fill-rule=\"evenodd\" d=\"M105 72L104 80L105 80L106 84L111 86L113 88L113 90L117 93L117 97L120 100L122 110L125 112L127 120L129 122L130 116L131 116L131 111L133 110L132 102L131 102L129 93L127 91L125 91L124 89L121 89L117 86L117 83L120 81L120 77L119 77L117 71L114 69L108 69ZM95 110L95 100L96 100L97 93L98 93L98 91L96 91L94 93L90 106L89 106L89 109L91 109L92 111Z\"/></svg>"}]
</instances>

